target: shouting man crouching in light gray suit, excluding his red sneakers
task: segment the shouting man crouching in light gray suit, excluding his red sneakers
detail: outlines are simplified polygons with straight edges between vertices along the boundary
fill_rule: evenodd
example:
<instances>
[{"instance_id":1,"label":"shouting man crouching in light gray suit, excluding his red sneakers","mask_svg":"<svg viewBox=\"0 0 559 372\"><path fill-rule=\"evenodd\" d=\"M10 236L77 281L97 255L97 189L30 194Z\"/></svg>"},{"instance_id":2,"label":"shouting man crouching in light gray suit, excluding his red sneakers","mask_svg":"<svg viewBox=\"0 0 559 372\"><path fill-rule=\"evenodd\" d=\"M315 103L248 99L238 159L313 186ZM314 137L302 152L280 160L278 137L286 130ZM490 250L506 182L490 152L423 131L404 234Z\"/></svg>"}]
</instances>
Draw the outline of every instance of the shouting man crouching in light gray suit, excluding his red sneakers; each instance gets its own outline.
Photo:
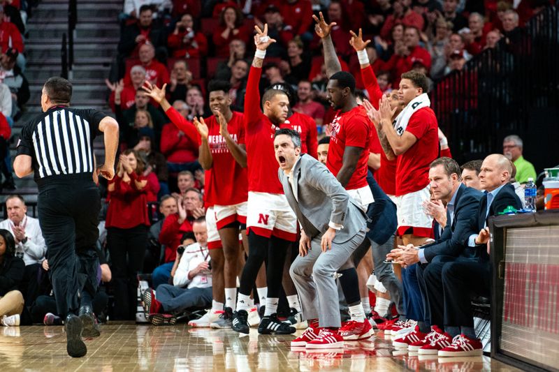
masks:
<instances>
[{"instance_id":1,"label":"shouting man crouching in light gray suit, excluding his red sneakers","mask_svg":"<svg viewBox=\"0 0 559 372\"><path fill-rule=\"evenodd\" d=\"M341 327L334 276L365 238L365 214L326 166L300 154L298 132L277 131L274 149L279 181L301 228L299 255L289 274L303 318L318 319L319 327Z\"/></svg>"}]
</instances>

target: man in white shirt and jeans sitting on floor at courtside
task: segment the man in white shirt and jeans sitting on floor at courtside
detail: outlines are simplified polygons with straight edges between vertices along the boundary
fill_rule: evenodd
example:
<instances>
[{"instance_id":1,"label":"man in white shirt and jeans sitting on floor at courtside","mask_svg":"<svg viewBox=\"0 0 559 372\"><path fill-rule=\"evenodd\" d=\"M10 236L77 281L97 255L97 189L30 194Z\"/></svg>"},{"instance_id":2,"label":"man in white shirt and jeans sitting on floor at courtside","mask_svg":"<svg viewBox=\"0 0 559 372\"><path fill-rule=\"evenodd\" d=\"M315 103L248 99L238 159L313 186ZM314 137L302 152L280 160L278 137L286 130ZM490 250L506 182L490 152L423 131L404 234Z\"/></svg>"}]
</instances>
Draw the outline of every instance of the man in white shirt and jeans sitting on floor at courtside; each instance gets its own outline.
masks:
<instances>
[{"instance_id":1,"label":"man in white shirt and jeans sitting on floor at courtside","mask_svg":"<svg viewBox=\"0 0 559 372\"><path fill-rule=\"evenodd\" d=\"M181 257L173 276L173 285L159 285L157 299L152 288L148 288L142 296L146 318L153 325L174 324L174 314L212 304L212 271L205 218L197 218L192 230L196 243L177 248L177 255Z\"/></svg>"}]
</instances>

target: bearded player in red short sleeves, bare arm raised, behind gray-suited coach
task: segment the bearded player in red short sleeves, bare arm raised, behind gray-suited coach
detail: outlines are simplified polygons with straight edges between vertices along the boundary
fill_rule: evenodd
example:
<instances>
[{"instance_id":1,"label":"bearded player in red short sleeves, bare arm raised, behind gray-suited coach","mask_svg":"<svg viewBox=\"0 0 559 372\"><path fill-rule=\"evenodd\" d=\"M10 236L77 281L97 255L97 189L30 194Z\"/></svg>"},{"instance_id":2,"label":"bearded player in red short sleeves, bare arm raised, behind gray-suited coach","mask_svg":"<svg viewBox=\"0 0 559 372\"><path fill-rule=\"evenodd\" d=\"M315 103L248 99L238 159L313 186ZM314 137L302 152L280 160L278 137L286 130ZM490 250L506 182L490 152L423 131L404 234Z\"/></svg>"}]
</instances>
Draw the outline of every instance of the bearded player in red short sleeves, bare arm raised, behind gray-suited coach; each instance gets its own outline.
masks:
<instances>
[{"instance_id":1,"label":"bearded player in red short sleeves, bare arm raised, behind gray-suited coach","mask_svg":"<svg viewBox=\"0 0 559 372\"><path fill-rule=\"evenodd\" d=\"M314 31L322 39L324 46L326 73L330 77L326 86L327 97L335 110L326 166L351 198L361 204L363 211L366 211L368 204L374 201L366 178L373 127L363 106L357 104L355 78L350 73L342 71L336 57L330 36L333 23L327 24L322 13L319 13L319 16L320 19L313 16L316 22ZM365 241L352 253L352 256L361 249L368 250L368 248L368 241ZM355 258L358 261L357 256ZM372 329L365 318L353 257L337 272L342 274L339 278L340 285L351 315L351 320L342 324L338 332L346 340L368 338L372 334Z\"/></svg>"}]
</instances>

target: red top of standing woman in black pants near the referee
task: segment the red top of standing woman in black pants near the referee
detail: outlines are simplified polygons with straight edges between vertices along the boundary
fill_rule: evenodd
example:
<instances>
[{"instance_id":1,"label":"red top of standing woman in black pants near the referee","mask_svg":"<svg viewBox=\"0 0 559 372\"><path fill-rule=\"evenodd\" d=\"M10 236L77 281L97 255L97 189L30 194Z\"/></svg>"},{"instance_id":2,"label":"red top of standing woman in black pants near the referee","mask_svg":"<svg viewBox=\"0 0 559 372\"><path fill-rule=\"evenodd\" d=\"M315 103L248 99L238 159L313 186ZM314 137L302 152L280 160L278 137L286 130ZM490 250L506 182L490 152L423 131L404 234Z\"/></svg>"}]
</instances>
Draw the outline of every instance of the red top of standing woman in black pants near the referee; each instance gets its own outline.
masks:
<instances>
[{"instance_id":1,"label":"red top of standing woman in black pants near the referee","mask_svg":"<svg viewBox=\"0 0 559 372\"><path fill-rule=\"evenodd\" d=\"M108 185L115 185L115 190L108 191L109 207L105 221L106 228L130 229L138 225L150 225L147 216L147 191L150 187L138 190L134 181L147 180L146 177L138 176L132 172L130 182L124 182L115 174Z\"/></svg>"}]
</instances>

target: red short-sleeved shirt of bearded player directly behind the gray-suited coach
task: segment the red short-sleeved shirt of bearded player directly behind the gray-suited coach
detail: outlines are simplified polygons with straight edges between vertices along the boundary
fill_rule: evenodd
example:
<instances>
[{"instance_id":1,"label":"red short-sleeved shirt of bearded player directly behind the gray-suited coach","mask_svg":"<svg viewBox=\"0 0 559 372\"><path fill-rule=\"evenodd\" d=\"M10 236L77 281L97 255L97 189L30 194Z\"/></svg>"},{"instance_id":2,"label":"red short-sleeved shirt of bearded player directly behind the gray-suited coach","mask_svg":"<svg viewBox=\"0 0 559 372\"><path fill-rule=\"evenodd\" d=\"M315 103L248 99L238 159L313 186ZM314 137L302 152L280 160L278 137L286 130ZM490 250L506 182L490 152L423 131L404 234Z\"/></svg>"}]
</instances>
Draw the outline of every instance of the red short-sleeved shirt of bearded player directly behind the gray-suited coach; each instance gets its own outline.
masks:
<instances>
[{"instance_id":1,"label":"red short-sleeved shirt of bearded player directly behind the gray-suited coach","mask_svg":"<svg viewBox=\"0 0 559 372\"><path fill-rule=\"evenodd\" d=\"M354 190L368 186L367 161L369 160L371 124L365 108L357 106L348 112L338 111L331 127L332 133L326 166L337 177L337 173L342 168L345 148L347 146L361 147L363 151L357 161L354 174L351 175L345 188L346 190Z\"/></svg>"}]
</instances>

